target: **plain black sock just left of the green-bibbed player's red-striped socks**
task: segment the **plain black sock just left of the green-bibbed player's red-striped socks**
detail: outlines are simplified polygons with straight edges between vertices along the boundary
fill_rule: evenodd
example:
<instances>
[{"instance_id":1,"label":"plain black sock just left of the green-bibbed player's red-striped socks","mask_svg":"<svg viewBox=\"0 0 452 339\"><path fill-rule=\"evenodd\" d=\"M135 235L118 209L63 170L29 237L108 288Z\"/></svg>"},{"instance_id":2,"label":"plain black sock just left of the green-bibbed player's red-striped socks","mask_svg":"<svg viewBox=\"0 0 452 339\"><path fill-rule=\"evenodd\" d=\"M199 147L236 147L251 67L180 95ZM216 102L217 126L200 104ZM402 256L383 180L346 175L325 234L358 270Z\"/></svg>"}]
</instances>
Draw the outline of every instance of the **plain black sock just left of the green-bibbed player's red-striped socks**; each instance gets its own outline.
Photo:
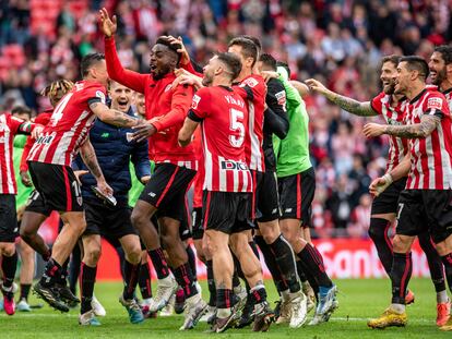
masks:
<instances>
[{"instance_id":1,"label":"plain black sock just left of the green-bibbed player's red-striped socks","mask_svg":"<svg viewBox=\"0 0 452 339\"><path fill-rule=\"evenodd\" d=\"M287 281L290 293L298 292L300 290L300 283L297 278L297 270L295 265L294 252L284 239L283 234L279 234L276 240L270 244L276 264L283 274L283 279Z\"/></svg>"}]
</instances>

